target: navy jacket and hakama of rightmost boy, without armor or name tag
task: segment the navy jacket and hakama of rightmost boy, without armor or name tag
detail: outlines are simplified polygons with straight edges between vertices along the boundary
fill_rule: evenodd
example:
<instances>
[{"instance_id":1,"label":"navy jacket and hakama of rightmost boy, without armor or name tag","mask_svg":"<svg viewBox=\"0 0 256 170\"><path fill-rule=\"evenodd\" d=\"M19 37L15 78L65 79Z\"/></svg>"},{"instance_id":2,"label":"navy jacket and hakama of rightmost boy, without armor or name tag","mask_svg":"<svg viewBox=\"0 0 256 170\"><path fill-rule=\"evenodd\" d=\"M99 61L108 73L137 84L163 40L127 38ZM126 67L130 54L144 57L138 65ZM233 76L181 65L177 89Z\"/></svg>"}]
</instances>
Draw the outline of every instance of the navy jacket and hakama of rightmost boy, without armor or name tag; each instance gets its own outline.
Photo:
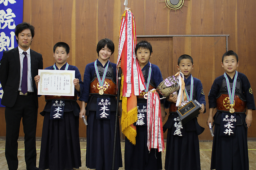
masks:
<instances>
[{"instance_id":1,"label":"navy jacket and hakama of rightmost boy, without armor or name tag","mask_svg":"<svg viewBox=\"0 0 256 170\"><path fill-rule=\"evenodd\" d=\"M237 72L235 95L246 101L247 109L255 110L255 103L252 89L248 78ZM235 76L231 79L228 75L229 83L234 83ZM225 81L225 82L224 82ZM224 83L223 83L224 82ZM208 95L209 108L217 106L216 99L222 93L228 94L226 79L224 75L217 77ZM211 169L216 170L249 170L249 157L247 145L247 124L245 113L236 114L236 127L234 136L220 136L220 122L222 121L221 111L217 111L213 116L214 137L212 144Z\"/></svg>"}]
</instances>

